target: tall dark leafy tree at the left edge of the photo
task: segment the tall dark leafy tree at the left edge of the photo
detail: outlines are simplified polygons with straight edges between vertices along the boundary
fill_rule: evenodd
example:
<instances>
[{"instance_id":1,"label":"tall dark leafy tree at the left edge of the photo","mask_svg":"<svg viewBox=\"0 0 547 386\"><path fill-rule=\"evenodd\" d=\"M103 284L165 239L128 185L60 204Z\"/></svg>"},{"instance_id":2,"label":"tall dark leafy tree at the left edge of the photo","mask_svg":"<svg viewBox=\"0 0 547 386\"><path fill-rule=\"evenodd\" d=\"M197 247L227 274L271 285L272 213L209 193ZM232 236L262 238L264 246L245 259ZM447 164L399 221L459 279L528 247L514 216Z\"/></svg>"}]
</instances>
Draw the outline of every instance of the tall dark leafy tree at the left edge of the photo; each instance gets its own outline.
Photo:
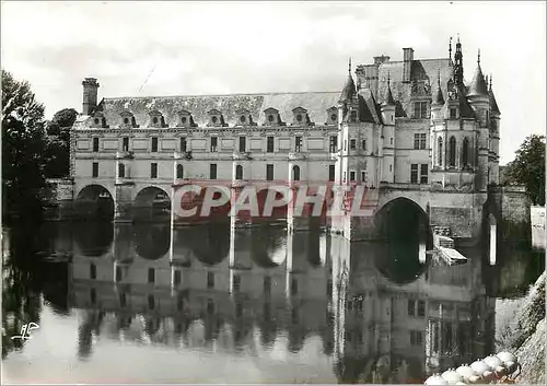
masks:
<instances>
[{"instance_id":1,"label":"tall dark leafy tree at the left edge of the photo","mask_svg":"<svg viewBox=\"0 0 547 386\"><path fill-rule=\"evenodd\" d=\"M2 69L2 204L4 213L37 214L45 186L44 105L27 81Z\"/></svg>"}]
</instances>

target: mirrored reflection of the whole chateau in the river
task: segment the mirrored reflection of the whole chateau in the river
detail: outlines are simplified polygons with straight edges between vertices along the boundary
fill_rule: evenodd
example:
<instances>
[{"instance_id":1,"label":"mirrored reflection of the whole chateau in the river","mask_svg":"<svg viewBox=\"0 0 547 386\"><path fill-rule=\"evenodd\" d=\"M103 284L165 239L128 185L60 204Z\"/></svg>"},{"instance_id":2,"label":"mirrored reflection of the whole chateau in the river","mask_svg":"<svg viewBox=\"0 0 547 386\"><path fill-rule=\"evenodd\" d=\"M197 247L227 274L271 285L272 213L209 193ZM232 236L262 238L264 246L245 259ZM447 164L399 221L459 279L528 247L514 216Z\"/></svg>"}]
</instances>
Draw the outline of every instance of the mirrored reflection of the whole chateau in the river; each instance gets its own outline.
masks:
<instances>
[{"instance_id":1,"label":"mirrored reflection of the whole chateau in the river","mask_svg":"<svg viewBox=\"0 0 547 386\"><path fill-rule=\"evenodd\" d=\"M339 381L395 383L493 344L478 257L422 265L418 246L282 227L82 226L57 248L73 250L69 302L83 313L83 356L93 334L228 353L281 336L299 352L319 336Z\"/></svg>"}]
</instances>

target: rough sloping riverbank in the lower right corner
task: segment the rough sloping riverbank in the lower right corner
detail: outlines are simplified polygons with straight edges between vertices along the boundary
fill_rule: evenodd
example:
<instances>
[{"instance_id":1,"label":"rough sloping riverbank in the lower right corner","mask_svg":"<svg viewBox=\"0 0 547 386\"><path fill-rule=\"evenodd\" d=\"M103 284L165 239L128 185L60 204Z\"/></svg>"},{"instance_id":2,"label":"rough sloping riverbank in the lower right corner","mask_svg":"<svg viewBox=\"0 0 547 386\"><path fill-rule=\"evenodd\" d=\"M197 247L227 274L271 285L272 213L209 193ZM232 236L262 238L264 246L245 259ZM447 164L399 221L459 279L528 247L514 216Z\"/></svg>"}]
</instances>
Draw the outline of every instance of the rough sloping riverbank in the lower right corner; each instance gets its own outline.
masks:
<instances>
[{"instance_id":1,"label":"rough sloping riverbank in the lower right corner","mask_svg":"<svg viewBox=\"0 0 547 386\"><path fill-rule=\"evenodd\" d=\"M545 271L502 332L501 346L522 364L519 384L545 384Z\"/></svg>"}]
</instances>

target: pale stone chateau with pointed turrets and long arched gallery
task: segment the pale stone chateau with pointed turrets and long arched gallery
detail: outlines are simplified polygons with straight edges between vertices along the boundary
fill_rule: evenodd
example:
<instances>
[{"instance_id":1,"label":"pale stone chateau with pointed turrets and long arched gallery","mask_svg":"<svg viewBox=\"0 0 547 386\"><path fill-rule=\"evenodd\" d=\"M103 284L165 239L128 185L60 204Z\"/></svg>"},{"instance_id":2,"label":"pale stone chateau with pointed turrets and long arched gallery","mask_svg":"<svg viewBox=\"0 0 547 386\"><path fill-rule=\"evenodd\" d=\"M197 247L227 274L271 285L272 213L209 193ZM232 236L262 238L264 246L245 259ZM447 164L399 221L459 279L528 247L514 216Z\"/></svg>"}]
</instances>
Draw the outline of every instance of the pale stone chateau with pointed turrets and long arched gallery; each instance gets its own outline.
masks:
<instances>
[{"instance_id":1,"label":"pale stone chateau with pointed turrets and long arched gallery","mask_svg":"<svg viewBox=\"0 0 547 386\"><path fill-rule=\"evenodd\" d=\"M187 180L253 180L265 187L276 180L333 182L366 187L375 212L404 198L430 225L447 226L456 238L477 237L489 197L487 206L496 209L488 211L497 211L498 221L509 215L502 207L525 212L527 203L509 206L500 198L504 192L488 194L499 179L500 110L492 79L485 78L479 54L473 79L464 81L459 39L447 54L416 59L412 48L404 48L401 61L382 55L354 73L350 61L341 92L97 103L100 84L86 78L82 114L71 131L67 201L96 206L108 198L106 212L124 221L138 208L162 202L168 211L173 189ZM363 239L371 237L371 221L348 217L330 226Z\"/></svg>"}]
</instances>

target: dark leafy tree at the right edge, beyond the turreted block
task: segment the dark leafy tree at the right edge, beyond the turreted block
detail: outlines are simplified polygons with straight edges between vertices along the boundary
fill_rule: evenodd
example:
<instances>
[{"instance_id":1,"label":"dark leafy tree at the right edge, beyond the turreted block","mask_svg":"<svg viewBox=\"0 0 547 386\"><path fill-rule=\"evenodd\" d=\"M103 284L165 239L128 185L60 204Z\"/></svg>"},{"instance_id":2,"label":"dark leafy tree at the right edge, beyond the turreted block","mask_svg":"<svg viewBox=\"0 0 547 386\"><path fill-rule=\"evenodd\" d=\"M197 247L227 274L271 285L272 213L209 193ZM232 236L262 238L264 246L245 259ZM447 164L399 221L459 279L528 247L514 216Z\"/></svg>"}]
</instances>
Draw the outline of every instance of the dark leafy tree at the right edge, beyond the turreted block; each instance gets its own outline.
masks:
<instances>
[{"instance_id":1,"label":"dark leafy tree at the right edge, beyond the turreted block","mask_svg":"<svg viewBox=\"0 0 547 386\"><path fill-rule=\"evenodd\" d=\"M545 136L527 137L509 163L505 176L510 185L523 185L534 204L545 204Z\"/></svg>"}]
</instances>

